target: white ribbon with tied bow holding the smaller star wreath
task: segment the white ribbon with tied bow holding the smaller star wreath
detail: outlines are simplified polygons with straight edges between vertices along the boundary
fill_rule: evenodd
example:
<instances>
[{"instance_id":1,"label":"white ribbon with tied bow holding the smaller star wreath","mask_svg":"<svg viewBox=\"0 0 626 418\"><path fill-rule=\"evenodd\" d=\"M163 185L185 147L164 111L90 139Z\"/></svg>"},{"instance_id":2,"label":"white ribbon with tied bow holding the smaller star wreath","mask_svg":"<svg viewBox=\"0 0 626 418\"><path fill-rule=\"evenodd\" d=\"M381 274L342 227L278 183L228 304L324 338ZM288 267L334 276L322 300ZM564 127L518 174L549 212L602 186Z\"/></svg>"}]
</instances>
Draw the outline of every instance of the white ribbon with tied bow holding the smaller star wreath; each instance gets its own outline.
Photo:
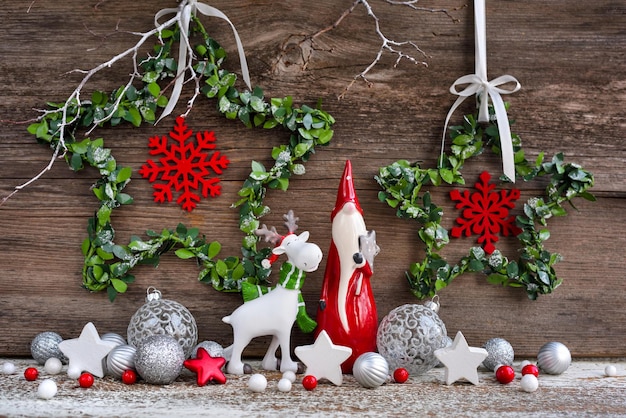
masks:
<instances>
[{"instance_id":1,"label":"white ribbon with tied bow holding the smaller star wreath","mask_svg":"<svg viewBox=\"0 0 626 418\"><path fill-rule=\"evenodd\" d=\"M448 130L448 122L454 111L469 96L480 95L480 108L478 111L478 121L489 121L489 99L493 103L493 108L498 121L498 133L500 134L500 149L502 150L502 169L504 175L515 183L515 160L513 154L513 142L511 140L511 128L509 126L509 118L506 114L506 108L501 94L511 94L518 91L522 86L519 81L511 75L503 75L494 80L487 79L487 34L486 34L486 17L485 17L485 0L474 1L474 32L475 32L475 74L464 75L458 78L452 86L450 93L459 97L456 99L448 116L443 130L443 138L441 141L441 157L440 163L443 161L443 149L446 140L446 132ZM500 88L503 84L515 83L511 89ZM463 90L457 87L467 85Z\"/></svg>"}]
</instances>

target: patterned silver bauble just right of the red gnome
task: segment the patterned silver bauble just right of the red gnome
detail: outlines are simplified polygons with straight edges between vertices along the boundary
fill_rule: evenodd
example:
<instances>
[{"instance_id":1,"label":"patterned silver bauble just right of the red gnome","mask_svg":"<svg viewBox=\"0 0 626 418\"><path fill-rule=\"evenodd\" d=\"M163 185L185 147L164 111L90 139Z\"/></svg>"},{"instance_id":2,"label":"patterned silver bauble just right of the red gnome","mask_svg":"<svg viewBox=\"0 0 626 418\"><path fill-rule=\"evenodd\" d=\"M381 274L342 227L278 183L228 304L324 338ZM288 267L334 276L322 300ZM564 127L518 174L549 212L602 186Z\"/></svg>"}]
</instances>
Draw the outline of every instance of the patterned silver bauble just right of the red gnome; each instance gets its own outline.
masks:
<instances>
[{"instance_id":1,"label":"patterned silver bauble just right of the red gnome","mask_svg":"<svg viewBox=\"0 0 626 418\"><path fill-rule=\"evenodd\" d=\"M433 309L406 304L383 318L376 344L390 369L404 367L411 375L419 375L439 363L435 350L446 346L447 336L445 324Z\"/></svg>"}]
</instances>

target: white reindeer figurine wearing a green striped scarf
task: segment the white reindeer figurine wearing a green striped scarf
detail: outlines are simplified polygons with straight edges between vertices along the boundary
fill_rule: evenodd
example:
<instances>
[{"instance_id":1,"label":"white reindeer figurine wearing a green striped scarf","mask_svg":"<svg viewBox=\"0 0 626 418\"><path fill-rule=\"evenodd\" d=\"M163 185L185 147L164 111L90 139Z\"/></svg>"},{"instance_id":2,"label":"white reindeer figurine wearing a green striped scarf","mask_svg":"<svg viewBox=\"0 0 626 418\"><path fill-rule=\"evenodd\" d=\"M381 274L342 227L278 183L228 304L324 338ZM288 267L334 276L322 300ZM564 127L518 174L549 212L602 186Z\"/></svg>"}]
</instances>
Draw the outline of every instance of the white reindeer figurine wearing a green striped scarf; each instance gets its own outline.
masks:
<instances>
[{"instance_id":1,"label":"white reindeer figurine wearing a green striped scarf","mask_svg":"<svg viewBox=\"0 0 626 418\"><path fill-rule=\"evenodd\" d=\"M228 360L226 371L230 374L244 373L241 360L243 350L253 338L264 335L271 335L272 342L261 362L263 369L276 370L276 350L280 347L280 371L296 372L298 364L290 354L293 324L297 322L304 332L312 332L317 326L306 313L300 289L304 284L305 273L317 270L322 261L322 250L307 242L308 231L300 235L294 234L298 219L294 217L293 211L283 215L283 218L289 230L285 236L278 234L274 227L268 230L265 225L255 231L257 235L264 236L265 241L275 245L272 256L263 260L265 268L269 268L279 255L287 255L287 261L280 269L278 284L267 288L244 282L244 304L222 318L222 321L233 327L233 344L224 350L224 357Z\"/></svg>"}]
</instances>

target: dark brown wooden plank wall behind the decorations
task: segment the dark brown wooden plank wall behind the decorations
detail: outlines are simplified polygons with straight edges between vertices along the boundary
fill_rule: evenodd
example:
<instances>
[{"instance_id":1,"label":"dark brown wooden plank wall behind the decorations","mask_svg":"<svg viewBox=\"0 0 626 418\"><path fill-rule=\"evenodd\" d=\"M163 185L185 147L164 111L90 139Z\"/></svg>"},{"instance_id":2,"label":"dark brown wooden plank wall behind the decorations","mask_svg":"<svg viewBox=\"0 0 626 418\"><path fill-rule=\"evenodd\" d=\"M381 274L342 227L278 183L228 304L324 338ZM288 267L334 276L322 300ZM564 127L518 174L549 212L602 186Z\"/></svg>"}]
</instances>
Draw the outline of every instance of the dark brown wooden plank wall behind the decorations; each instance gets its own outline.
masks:
<instances>
[{"instance_id":1,"label":"dark brown wooden plank wall behind the decorations","mask_svg":"<svg viewBox=\"0 0 626 418\"><path fill-rule=\"evenodd\" d=\"M37 174L48 163L50 149L37 145L18 123L36 117L46 101L61 101L80 81L75 68L89 69L135 42L130 31L145 31L160 7L176 2L122 0L65 2L2 2L0 20L0 197ZM455 97L448 87L473 71L473 14L464 0L420 3L445 7L450 15L411 10L371 0L381 28L395 40L414 40L428 55L428 67L384 55L369 74L371 87L356 82L342 100L337 96L373 60L380 41L374 21L362 6L334 30L317 38L306 68L294 45L281 45L292 35L312 34L332 24L351 1L215 0L236 25L250 64L253 84L267 97L292 95L295 103L314 105L318 99L337 120L329 147L307 164L307 174L292 181L286 193L267 198L272 213L265 222L279 225L292 208L301 230L326 252L329 216L346 159L354 167L359 199L368 229L377 231L382 249L372 279L382 318L403 303L420 303L409 292L404 270L422 257L417 226L396 219L379 203L373 180L380 166L401 158L434 165L445 114ZM568 161L596 176L596 203L576 202L578 212L550 223L549 248L564 256L557 266L563 285L549 296L530 301L523 292L495 287L482 276L458 278L441 293L440 315L454 335L462 330L468 342L481 345L492 337L506 338L520 356L534 356L549 340L565 343L573 356L624 356L626 328L626 5L622 1L572 2L488 1L488 68L491 78L502 74L520 80L521 91L507 97L514 132L521 135L530 157L563 151ZM30 5L30 7L29 7ZM239 64L227 24L205 20L211 34L229 52L227 67ZM297 37L292 38L299 39ZM282 57L282 58L281 58ZM96 77L89 88L112 90L126 80L130 63L114 66ZM471 100L468 100L470 102ZM463 111L471 111L465 105ZM457 121L462 115L458 111ZM101 129L119 163L137 170L147 159L147 139L165 134L173 117L158 127ZM218 146L231 159L222 176L223 194L204 200L191 214L175 204L152 201L147 181L134 175L128 191L135 203L114 217L117 239L146 229L173 228L179 222L199 227L223 244L223 254L238 255L241 234L237 213L229 208L249 172L251 159L268 163L272 146L287 140L279 131L250 130L227 121L215 103L197 102L188 118L195 129L215 130ZM484 156L470 162L469 182L499 163ZM136 171L135 171L136 172ZM194 314L200 338L227 344L231 329L221 322L240 303L236 294L218 293L198 283L192 262L163 257L158 269L137 268L137 281L110 303L104 293L81 288L80 243L87 218L97 207L90 185L95 173L73 173L58 161L42 179L0 206L0 355L27 356L31 339L52 330L64 338L80 333L92 321L101 332L125 333L148 286ZM539 193L536 184L521 184L522 197ZM447 226L454 210L446 194L433 191L446 211ZM503 239L512 254L515 241ZM457 258L470 246L461 240L446 249ZM308 275L304 294L311 313L321 288L324 262ZM298 332L294 345L311 337ZM250 355L264 349L264 341Z\"/></svg>"}]
</instances>

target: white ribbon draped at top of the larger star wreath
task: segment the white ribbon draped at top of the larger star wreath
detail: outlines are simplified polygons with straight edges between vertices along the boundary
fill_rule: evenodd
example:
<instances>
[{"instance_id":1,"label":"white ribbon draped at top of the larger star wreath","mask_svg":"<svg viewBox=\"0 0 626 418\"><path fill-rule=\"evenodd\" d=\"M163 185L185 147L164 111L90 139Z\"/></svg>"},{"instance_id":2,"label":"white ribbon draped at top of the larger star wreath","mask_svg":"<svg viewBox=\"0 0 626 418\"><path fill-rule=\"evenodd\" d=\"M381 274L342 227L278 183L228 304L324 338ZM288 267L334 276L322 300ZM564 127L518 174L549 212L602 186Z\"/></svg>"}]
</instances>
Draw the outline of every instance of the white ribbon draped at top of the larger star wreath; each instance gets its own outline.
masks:
<instances>
[{"instance_id":1,"label":"white ribbon draped at top of the larger star wreath","mask_svg":"<svg viewBox=\"0 0 626 418\"><path fill-rule=\"evenodd\" d=\"M248 89L252 90L250 75L248 73L248 63L246 61L246 55L244 54L243 45L241 44L241 39L239 39L237 29L235 29L235 25L233 25L233 23L224 13L222 13L221 10L216 9L215 7L209 6L208 4L200 3L197 0L183 1L178 8L162 9L154 16L154 25L156 27L159 27L159 19L161 17L174 13L176 14L176 21L178 23L178 27L180 28L180 46L178 49L178 70L176 73L176 81L174 83L172 94L170 95L167 106L165 106L165 109L163 109L163 113L159 117L158 121L172 113L183 89L183 84L185 82L185 71L187 67L189 67L190 62L193 58L193 49L191 48L191 44L189 43L189 38L187 36L189 33L189 23L191 22L191 16L195 15L196 12L200 12L205 16L218 17L228 22L230 27L233 29L233 34L235 35L235 42L237 43L237 52L239 53L239 63L241 65L243 80L248 86Z\"/></svg>"}]
</instances>

